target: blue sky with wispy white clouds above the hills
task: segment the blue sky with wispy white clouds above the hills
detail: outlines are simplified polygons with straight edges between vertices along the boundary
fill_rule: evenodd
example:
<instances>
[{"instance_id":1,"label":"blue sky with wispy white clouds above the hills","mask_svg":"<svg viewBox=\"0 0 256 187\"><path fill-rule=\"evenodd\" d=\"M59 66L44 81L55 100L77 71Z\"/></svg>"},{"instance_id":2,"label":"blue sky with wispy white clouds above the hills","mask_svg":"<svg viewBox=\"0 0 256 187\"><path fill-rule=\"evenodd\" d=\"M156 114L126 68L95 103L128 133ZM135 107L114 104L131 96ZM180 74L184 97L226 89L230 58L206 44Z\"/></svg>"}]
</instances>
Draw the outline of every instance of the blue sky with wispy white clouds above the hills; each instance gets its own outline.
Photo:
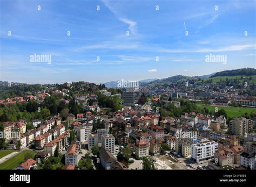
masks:
<instances>
[{"instance_id":1,"label":"blue sky with wispy white clouds above the hills","mask_svg":"<svg viewBox=\"0 0 256 187\"><path fill-rule=\"evenodd\" d=\"M0 3L1 81L104 83L256 67L256 1ZM51 63L30 62L34 54ZM206 62L210 54L227 63Z\"/></svg>"}]
</instances>

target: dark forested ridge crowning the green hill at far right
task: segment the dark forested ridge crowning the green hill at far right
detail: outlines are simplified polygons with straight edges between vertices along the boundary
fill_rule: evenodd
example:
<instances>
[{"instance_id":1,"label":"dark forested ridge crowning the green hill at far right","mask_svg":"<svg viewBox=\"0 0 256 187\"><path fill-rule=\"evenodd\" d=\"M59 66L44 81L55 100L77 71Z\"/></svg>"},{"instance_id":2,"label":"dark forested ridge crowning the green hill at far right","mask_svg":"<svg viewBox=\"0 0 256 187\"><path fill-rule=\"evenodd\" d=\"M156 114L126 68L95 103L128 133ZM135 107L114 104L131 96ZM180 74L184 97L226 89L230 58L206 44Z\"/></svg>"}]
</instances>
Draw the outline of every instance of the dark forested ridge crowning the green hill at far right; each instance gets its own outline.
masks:
<instances>
[{"instance_id":1,"label":"dark forested ridge crowning the green hill at far right","mask_svg":"<svg viewBox=\"0 0 256 187\"><path fill-rule=\"evenodd\" d=\"M217 72L214 75L210 76L210 78L217 77L217 76L235 76L235 75L247 75L247 76L256 75L256 69L241 68L241 69L220 71L220 72Z\"/></svg>"}]
</instances>

